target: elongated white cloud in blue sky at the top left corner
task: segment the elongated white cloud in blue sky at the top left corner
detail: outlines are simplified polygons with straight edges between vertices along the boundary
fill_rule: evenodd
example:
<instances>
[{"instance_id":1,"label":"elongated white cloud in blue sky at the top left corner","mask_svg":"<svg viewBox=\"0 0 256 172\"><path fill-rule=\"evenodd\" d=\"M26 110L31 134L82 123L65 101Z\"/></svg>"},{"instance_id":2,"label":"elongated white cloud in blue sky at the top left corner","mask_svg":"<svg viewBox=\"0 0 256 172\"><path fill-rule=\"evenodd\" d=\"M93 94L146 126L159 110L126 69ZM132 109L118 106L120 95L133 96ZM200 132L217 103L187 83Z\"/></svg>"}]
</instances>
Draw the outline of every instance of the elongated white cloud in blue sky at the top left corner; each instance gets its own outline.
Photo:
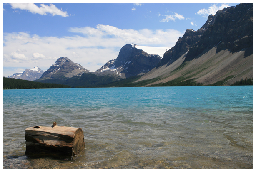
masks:
<instances>
[{"instance_id":1,"label":"elongated white cloud in blue sky at the top left corner","mask_svg":"<svg viewBox=\"0 0 256 172\"><path fill-rule=\"evenodd\" d=\"M59 10L55 5L50 4L44 5L40 4L41 7L38 7L34 3L10 3L13 9L20 9L20 10L28 10L29 12L32 12L33 14L40 14L40 15L47 15L47 13L50 13L51 15L60 15L62 17L68 17L67 12L63 12L62 10Z\"/></svg>"}]
</instances>

